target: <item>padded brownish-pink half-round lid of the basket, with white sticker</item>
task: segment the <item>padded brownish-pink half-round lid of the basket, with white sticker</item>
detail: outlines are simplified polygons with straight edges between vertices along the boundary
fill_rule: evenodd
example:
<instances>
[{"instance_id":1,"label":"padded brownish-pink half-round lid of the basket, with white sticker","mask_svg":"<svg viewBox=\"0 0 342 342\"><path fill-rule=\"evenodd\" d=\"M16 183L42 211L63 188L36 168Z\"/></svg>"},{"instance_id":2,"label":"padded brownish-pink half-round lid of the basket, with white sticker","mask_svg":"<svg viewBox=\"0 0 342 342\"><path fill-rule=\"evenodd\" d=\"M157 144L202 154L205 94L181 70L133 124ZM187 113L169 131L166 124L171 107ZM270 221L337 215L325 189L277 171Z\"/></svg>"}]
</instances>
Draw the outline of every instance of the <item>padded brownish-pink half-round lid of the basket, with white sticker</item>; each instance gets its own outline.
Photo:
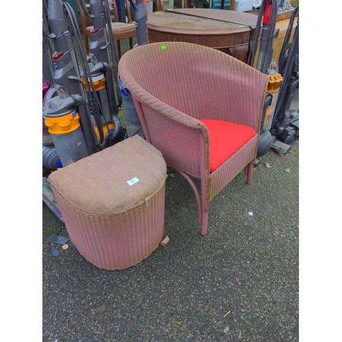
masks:
<instances>
[{"instance_id":1,"label":"padded brownish-pink half-round lid of the basket, with white sticker","mask_svg":"<svg viewBox=\"0 0 342 342\"><path fill-rule=\"evenodd\" d=\"M148 201L163 186L166 162L139 135L60 168L51 187L78 209L118 213Z\"/></svg>"}]
</instances>

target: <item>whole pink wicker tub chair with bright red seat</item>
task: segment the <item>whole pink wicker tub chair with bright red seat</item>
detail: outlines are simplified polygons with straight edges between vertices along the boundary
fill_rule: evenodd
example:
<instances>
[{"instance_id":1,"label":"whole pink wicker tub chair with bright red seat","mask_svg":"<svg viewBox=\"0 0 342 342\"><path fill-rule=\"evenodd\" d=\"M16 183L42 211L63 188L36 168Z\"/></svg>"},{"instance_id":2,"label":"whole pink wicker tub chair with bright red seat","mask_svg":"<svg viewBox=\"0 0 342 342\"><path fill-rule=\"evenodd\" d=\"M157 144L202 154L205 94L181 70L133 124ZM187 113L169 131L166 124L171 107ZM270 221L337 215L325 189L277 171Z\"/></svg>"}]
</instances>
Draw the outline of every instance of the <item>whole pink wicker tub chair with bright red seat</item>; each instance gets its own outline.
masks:
<instances>
[{"instance_id":1,"label":"whole pink wicker tub chair with bright red seat","mask_svg":"<svg viewBox=\"0 0 342 342\"><path fill-rule=\"evenodd\" d=\"M146 140L194 190L205 235L211 200L244 168L252 183L267 76L186 42L136 47L118 70ZM200 192L189 175L200 179Z\"/></svg>"}]
</instances>

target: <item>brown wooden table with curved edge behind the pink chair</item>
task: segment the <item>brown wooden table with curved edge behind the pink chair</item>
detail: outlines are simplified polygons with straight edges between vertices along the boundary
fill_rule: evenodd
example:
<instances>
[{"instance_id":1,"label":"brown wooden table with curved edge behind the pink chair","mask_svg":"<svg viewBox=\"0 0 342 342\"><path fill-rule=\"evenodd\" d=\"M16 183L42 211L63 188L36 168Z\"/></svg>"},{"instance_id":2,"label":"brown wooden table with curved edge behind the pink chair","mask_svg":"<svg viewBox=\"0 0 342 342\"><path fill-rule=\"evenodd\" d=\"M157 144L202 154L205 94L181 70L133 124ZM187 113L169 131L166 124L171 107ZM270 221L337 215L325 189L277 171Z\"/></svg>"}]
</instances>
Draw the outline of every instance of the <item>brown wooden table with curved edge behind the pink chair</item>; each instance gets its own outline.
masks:
<instances>
[{"instance_id":1,"label":"brown wooden table with curved edge behind the pink chair","mask_svg":"<svg viewBox=\"0 0 342 342\"><path fill-rule=\"evenodd\" d=\"M192 42L246 62L257 16L244 12L183 8L148 15L150 42Z\"/></svg>"}]
</instances>

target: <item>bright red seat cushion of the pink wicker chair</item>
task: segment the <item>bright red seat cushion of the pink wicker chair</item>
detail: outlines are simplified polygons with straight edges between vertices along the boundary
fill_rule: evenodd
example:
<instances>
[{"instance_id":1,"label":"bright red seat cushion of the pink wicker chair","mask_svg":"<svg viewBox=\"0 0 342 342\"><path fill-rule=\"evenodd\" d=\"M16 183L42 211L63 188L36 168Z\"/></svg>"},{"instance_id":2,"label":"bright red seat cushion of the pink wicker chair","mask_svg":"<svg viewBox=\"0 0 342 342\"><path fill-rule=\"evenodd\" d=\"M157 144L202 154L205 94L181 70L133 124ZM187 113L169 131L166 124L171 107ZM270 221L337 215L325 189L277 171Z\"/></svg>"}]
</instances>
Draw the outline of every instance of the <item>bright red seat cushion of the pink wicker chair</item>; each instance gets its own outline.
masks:
<instances>
[{"instance_id":1,"label":"bright red seat cushion of the pink wicker chair","mask_svg":"<svg viewBox=\"0 0 342 342\"><path fill-rule=\"evenodd\" d=\"M252 127L244 124L209 119L200 121L209 132L210 172L215 171L256 134Z\"/></svg>"}]
</instances>

